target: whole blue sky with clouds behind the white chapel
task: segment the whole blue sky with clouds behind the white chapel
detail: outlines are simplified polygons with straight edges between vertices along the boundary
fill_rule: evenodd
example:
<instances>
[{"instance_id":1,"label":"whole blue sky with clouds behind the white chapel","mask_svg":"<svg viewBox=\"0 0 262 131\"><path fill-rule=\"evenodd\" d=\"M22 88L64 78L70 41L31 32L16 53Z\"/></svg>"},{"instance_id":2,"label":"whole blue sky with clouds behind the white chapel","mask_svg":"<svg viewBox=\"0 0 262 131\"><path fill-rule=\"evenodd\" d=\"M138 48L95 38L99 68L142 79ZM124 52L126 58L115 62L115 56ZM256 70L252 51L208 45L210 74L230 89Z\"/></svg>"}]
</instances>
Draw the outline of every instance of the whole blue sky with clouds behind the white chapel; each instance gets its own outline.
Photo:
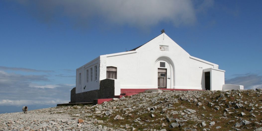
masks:
<instances>
[{"instance_id":1,"label":"whole blue sky with clouds behind the white chapel","mask_svg":"<svg viewBox=\"0 0 262 131\"><path fill-rule=\"evenodd\" d=\"M0 113L70 101L75 69L166 34L262 88L262 1L0 1Z\"/></svg>"}]
</instances>

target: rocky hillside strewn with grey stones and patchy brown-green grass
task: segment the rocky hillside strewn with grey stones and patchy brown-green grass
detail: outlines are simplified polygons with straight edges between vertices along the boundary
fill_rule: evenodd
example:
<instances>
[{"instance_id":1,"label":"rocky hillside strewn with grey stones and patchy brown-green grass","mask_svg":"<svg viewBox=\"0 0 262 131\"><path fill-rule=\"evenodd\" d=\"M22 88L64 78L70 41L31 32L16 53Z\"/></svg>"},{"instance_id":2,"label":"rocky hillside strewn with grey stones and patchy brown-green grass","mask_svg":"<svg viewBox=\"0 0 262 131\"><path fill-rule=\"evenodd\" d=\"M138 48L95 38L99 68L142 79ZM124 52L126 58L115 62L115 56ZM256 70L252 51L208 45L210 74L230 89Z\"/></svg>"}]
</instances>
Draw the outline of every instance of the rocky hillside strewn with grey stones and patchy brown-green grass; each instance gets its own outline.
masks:
<instances>
[{"instance_id":1,"label":"rocky hillside strewn with grey stones and patchy brown-green grass","mask_svg":"<svg viewBox=\"0 0 262 131\"><path fill-rule=\"evenodd\" d=\"M102 105L0 114L0 130L262 131L261 89L148 91Z\"/></svg>"}]
</instances>

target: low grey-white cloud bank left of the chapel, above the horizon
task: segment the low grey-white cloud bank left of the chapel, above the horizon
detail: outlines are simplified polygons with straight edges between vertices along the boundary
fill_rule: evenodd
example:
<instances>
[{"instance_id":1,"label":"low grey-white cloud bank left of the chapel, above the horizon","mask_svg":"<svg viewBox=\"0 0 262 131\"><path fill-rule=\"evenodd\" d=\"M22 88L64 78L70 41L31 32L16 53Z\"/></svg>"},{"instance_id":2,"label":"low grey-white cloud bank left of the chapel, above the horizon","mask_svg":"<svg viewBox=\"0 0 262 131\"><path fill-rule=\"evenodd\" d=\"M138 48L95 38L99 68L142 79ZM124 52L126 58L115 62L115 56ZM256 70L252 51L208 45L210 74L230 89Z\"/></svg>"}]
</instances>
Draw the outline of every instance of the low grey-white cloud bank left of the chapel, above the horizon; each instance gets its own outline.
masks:
<instances>
[{"instance_id":1,"label":"low grey-white cloud bank left of the chapel, above the horizon","mask_svg":"<svg viewBox=\"0 0 262 131\"><path fill-rule=\"evenodd\" d=\"M68 103L70 90L75 87L75 84L54 84L48 77L48 75L21 75L0 70L0 106Z\"/></svg>"}]
</instances>

